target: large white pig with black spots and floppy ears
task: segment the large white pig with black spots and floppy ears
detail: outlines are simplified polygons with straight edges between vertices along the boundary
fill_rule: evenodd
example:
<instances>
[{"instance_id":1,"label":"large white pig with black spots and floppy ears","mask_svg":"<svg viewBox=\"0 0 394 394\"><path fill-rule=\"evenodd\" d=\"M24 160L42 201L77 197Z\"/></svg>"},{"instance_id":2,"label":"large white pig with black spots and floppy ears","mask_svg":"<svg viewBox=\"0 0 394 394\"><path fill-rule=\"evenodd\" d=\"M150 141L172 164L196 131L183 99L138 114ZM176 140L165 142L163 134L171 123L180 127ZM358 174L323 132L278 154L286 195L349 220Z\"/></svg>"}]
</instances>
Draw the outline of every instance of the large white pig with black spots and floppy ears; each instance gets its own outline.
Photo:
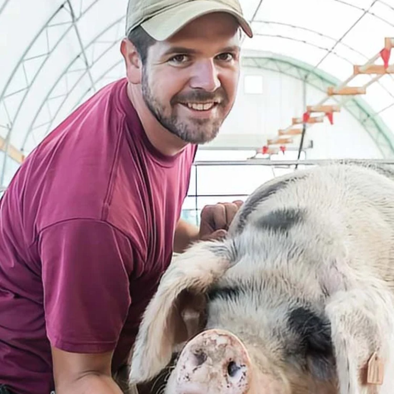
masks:
<instances>
[{"instance_id":1,"label":"large white pig with black spots and floppy ears","mask_svg":"<svg viewBox=\"0 0 394 394\"><path fill-rule=\"evenodd\" d=\"M391 394L393 260L388 166L335 162L270 180L224 239L173 258L130 382L164 371L165 394Z\"/></svg>"}]
</instances>

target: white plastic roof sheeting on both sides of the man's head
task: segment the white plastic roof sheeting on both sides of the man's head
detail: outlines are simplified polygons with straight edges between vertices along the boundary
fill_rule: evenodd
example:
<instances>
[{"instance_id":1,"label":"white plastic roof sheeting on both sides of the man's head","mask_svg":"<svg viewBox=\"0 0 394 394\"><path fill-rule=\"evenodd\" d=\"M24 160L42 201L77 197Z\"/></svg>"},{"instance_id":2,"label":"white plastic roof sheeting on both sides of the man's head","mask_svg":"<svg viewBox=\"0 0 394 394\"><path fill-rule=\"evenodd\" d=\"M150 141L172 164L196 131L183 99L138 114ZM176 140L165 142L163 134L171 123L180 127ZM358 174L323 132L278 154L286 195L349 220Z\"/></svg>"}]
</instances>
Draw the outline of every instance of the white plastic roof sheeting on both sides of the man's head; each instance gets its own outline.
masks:
<instances>
[{"instance_id":1,"label":"white plastic roof sheeting on both sides of the man's head","mask_svg":"<svg viewBox=\"0 0 394 394\"><path fill-rule=\"evenodd\" d=\"M299 59L340 80L394 37L393 0L241 4L255 32L244 48ZM119 47L126 6L127 0L0 0L0 137L28 154L78 104L125 75ZM357 78L354 84L372 77ZM371 116L394 130L393 75L370 86L364 99Z\"/></svg>"}]
</instances>

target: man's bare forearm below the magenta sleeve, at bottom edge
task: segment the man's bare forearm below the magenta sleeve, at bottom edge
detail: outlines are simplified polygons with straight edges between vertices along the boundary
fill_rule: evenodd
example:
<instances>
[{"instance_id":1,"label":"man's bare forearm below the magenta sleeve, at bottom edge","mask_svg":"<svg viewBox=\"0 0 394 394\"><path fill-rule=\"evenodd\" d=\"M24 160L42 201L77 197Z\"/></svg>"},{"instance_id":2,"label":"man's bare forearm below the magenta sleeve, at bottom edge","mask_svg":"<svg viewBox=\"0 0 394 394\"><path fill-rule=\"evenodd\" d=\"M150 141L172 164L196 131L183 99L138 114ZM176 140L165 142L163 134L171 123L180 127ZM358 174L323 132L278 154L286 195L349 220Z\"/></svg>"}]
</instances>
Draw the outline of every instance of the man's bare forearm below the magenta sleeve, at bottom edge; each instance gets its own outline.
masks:
<instances>
[{"instance_id":1,"label":"man's bare forearm below the magenta sleeve, at bottom edge","mask_svg":"<svg viewBox=\"0 0 394 394\"><path fill-rule=\"evenodd\" d=\"M111 376L112 353L69 353L52 347L56 394L122 394Z\"/></svg>"}]
</instances>

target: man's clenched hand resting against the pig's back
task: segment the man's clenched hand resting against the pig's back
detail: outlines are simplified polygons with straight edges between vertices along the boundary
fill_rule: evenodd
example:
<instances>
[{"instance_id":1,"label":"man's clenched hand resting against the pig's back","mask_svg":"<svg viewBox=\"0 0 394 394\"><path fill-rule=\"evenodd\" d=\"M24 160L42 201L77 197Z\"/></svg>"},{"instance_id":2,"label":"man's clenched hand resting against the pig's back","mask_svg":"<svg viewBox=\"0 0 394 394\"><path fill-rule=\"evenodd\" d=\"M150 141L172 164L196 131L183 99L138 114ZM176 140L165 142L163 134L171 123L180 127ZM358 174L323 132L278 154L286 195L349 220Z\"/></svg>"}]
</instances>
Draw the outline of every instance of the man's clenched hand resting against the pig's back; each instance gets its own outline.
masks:
<instances>
[{"instance_id":1,"label":"man's clenched hand resting against the pig's back","mask_svg":"<svg viewBox=\"0 0 394 394\"><path fill-rule=\"evenodd\" d=\"M206 205L201 211L200 240L221 239L227 234L232 219L243 201Z\"/></svg>"}]
</instances>

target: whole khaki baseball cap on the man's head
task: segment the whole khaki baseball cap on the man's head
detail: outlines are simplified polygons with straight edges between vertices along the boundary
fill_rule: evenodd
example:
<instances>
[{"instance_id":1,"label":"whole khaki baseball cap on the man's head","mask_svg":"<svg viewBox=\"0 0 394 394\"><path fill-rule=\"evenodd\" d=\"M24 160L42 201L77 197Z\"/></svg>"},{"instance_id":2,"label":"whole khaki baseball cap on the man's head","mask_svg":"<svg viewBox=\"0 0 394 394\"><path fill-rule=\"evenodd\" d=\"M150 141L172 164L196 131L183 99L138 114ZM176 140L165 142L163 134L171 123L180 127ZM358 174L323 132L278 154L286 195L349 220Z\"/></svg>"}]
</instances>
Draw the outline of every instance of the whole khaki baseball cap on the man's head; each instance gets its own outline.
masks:
<instances>
[{"instance_id":1,"label":"whole khaki baseball cap on the man's head","mask_svg":"<svg viewBox=\"0 0 394 394\"><path fill-rule=\"evenodd\" d=\"M238 0L129 0L126 35L141 26L151 37L163 41L191 20L212 12L233 15L242 30L249 37L253 36Z\"/></svg>"}]
</instances>

